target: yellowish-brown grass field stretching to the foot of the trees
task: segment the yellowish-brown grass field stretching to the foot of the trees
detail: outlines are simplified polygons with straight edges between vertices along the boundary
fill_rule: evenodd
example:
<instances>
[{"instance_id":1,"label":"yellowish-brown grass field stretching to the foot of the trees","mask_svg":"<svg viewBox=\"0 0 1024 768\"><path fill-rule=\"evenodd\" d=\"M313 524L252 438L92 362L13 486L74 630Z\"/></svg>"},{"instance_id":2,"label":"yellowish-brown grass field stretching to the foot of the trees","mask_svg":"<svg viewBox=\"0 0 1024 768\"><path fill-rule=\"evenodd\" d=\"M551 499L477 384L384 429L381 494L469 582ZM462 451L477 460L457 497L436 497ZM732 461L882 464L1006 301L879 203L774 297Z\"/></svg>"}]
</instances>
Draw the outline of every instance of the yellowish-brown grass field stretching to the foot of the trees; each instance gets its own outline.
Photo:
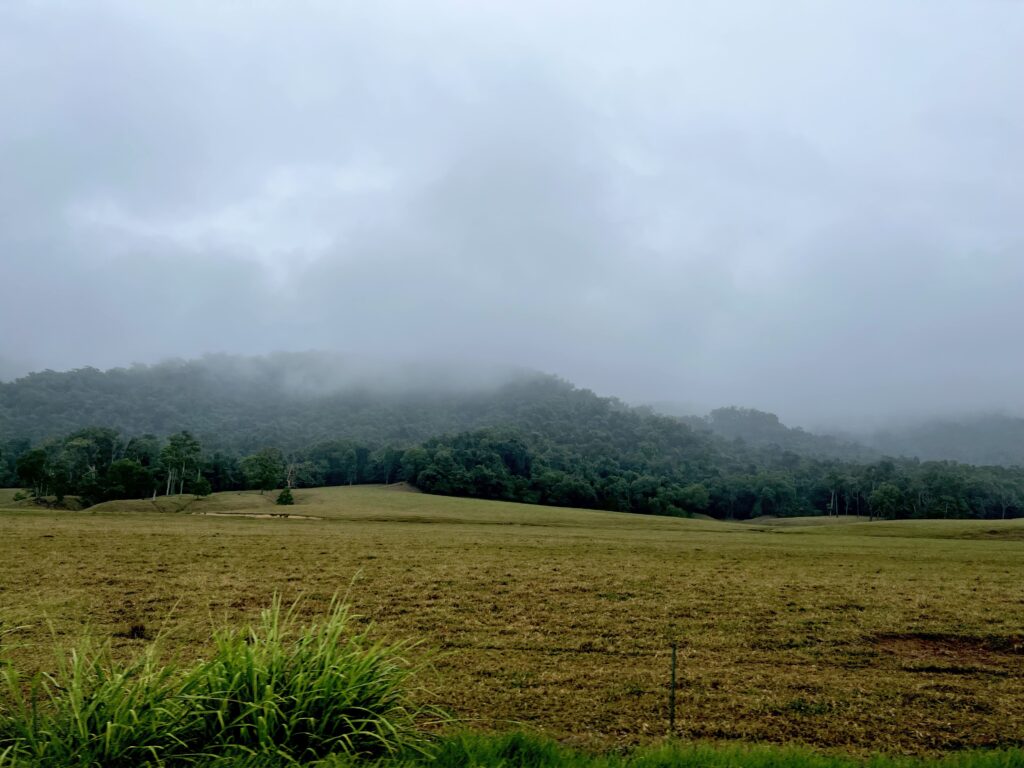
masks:
<instances>
[{"instance_id":1,"label":"yellowish-brown grass field stretching to the foot of the trees","mask_svg":"<svg viewBox=\"0 0 1024 768\"><path fill-rule=\"evenodd\" d=\"M337 592L436 654L472 728L608 749L679 735L928 754L1024 742L1024 523L729 524L400 488L51 511L0 492L0 648L27 670L88 633L130 651L274 592ZM286 513L289 518L266 517ZM252 516L248 516L252 515ZM301 516L301 517L298 517Z\"/></svg>"}]
</instances>

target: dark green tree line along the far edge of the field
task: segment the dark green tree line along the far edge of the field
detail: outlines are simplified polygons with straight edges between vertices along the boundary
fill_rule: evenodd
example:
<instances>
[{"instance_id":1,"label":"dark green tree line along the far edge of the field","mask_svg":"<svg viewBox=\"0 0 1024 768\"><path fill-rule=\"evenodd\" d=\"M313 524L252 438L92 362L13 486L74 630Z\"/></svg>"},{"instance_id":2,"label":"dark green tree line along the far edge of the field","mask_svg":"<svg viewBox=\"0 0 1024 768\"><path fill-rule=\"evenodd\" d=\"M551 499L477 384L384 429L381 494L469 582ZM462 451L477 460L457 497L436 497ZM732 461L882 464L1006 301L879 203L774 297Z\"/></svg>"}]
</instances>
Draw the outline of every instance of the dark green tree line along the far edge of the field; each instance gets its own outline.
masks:
<instances>
[{"instance_id":1,"label":"dark green tree line along the far edge of the field","mask_svg":"<svg viewBox=\"0 0 1024 768\"><path fill-rule=\"evenodd\" d=\"M559 432L557 439L500 426L408 446L339 439L292 451L267 445L246 455L204 450L188 431L125 437L90 427L35 445L27 439L0 443L0 485L57 501L75 496L84 505L406 481L447 496L720 519L1024 516L1019 468L891 458L857 463L741 440L728 443L729 452L709 454L699 435L677 432L672 420L604 415L589 427L573 422L575 432ZM557 422L556 416L549 413Z\"/></svg>"}]
</instances>

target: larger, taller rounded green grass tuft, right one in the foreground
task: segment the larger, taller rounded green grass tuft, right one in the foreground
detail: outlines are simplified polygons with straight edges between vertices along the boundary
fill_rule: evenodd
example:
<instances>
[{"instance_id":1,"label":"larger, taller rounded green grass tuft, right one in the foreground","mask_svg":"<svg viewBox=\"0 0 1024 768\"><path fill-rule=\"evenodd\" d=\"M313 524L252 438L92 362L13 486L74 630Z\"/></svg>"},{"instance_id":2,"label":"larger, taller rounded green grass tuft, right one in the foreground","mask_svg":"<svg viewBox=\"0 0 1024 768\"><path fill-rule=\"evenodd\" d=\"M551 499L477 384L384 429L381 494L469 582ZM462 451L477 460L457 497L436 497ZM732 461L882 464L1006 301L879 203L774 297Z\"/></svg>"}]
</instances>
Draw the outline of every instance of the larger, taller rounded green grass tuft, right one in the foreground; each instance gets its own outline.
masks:
<instances>
[{"instance_id":1,"label":"larger, taller rounded green grass tuft, right one in the foreground","mask_svg":"<svg viewBox=\"0 0 1024 768\"><path fill-rule=\"evenodd\" d=\"M296 761L423 752L428 742L418 726L434 713L411 696L408 646L350 632L348 608L337 599L307 626L296 609L274 598L256 627L217 635L214 656L190 680L199 743L217 754Z\"/></svg>"}]
</instances>

